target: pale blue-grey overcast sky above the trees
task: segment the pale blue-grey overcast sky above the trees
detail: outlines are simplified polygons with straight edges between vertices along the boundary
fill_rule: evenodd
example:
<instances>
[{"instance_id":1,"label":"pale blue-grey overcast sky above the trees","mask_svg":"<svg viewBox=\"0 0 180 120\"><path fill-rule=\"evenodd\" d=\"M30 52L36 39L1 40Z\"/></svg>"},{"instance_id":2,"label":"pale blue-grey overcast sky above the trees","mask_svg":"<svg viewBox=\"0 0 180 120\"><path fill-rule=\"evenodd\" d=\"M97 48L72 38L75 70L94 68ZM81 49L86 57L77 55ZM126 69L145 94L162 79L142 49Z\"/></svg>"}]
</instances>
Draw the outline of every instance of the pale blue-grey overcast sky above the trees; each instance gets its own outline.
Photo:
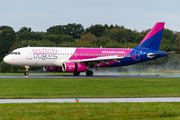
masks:
<instances>
[{"instance_id":1,"label":"pale blue-grey overcast sky above the trees","mask_svg":"<svg viewBox=\"0 0 180 120\"><path fill-rule=\"evenodd\" d=\"M56 25L95 24L124 26L138 32L165 22L180 32L180 0L1 0L0 26L19 31L46 32Z\"/></svg>"}]
</instances>

